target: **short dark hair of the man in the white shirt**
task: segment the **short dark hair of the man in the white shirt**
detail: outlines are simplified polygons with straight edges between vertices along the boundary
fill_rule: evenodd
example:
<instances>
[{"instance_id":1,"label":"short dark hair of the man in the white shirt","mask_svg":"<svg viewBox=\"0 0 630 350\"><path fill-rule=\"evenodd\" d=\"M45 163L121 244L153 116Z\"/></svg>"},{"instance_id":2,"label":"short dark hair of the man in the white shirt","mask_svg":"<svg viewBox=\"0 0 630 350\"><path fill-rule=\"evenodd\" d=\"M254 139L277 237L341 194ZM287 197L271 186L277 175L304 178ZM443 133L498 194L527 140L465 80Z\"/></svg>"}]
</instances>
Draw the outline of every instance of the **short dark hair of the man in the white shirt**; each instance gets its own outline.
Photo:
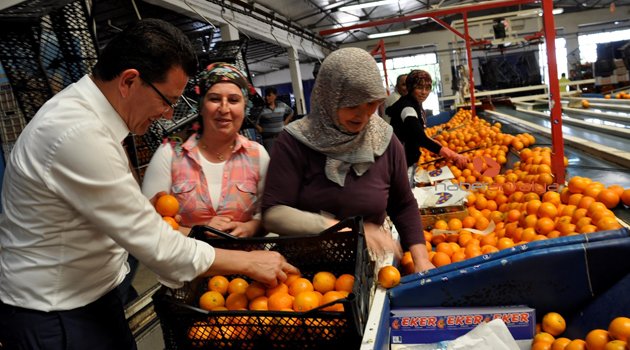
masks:
<instances>
[{"instance_id":1,"label":"short dark hair of the man in the white shirt","mask_svg":"<svg viewBox=\"0 0 630 350\"><path fill-rule=\"evenodd\" d=\"M101 52L92 69L97 79L111 81L125 69L137 69L142 79L166 80L172 67L182 67L188 76L197 72L197 55L186 35L172 24L149 18L131 25Z\"/></svg>"}]
</instances>

